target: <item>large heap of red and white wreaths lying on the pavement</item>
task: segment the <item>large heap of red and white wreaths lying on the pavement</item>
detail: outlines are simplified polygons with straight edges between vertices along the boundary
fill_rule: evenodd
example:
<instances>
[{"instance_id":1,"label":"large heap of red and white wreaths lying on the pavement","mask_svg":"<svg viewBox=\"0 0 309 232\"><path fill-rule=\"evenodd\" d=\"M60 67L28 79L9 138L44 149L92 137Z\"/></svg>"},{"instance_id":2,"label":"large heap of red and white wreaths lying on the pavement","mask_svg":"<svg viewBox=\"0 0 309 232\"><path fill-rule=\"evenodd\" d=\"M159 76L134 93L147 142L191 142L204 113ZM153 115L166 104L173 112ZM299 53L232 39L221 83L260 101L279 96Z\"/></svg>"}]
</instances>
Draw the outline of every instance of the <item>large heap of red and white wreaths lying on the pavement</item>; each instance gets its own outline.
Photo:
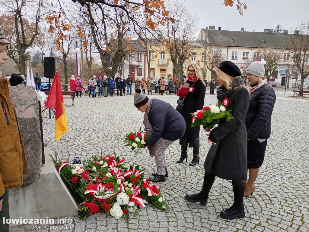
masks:
<instances>
[{"instance_id":1,"label":"large heap of red and white wreaths lying on the pavement","mask_svg":"<svg viewBox=\"0 0 309 232\"><path fill-rule=\"evenodd\" d=\"M144 178L144 169L133 163L127 170L125 159L121 160L116 153L105 157L101 153L76 165L57 160L57 153L52 159L79 205L80 219L103 212L128 220L129 212L137 215L138 209L149 202L159 209L169 209L159 185Z\"/></svg>"}]
</instances>

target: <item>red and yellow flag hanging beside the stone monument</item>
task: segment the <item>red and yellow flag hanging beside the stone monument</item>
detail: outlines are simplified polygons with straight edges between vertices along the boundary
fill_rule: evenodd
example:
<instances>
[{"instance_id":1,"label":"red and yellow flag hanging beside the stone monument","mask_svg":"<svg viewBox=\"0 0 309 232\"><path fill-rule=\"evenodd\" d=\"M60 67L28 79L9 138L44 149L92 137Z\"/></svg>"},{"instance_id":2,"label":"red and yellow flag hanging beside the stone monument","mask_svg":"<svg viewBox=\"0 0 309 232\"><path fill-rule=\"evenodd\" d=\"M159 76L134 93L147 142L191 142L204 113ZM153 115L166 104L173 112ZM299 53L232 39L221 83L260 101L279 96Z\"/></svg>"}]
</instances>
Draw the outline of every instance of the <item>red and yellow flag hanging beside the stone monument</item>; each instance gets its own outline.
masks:
<instances>
[{"instance_id":1,"label":"red and yellow flag hanging beside the stone monument","mask_svg":"<svg viewBox=\"0 0 309 232\"><path fill-rule=\"evenodd\" d=\"M64 109L64 102L61 90L59 74L53 80L52 87L50 88L45 106L56 111L55 121L55 140L60 141L61 136L68 132L68 124L66 122L66 111Z\"/></svg>"}]
</instances>

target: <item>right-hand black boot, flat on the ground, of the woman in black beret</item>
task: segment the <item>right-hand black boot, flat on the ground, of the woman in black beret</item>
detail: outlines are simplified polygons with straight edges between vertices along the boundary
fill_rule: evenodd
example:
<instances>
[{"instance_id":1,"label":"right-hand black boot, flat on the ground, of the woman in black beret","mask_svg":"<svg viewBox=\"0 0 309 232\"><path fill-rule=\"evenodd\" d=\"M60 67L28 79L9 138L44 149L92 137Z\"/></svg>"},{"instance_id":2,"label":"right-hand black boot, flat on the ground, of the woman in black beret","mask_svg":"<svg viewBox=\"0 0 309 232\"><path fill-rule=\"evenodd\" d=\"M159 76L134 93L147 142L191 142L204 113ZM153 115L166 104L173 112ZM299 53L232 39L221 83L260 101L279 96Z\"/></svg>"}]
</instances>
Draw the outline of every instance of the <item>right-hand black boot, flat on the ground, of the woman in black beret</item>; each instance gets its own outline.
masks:
<instances>
[{"instance_id":1,"label":"right-hand black boot, flat on the ground, of the woman in black beret","mask_svg":"<svg viewBox=\"0 0 309 232\"><path fill-rule=\"evenodd\" d=\"M231 208L221 211L220 217L223 219L245 217L245 209L243 207L243 192L245 190L245 183L243 181L232 181L232 185L234 189L234 203Z\"/></svg>"}]
</instances>

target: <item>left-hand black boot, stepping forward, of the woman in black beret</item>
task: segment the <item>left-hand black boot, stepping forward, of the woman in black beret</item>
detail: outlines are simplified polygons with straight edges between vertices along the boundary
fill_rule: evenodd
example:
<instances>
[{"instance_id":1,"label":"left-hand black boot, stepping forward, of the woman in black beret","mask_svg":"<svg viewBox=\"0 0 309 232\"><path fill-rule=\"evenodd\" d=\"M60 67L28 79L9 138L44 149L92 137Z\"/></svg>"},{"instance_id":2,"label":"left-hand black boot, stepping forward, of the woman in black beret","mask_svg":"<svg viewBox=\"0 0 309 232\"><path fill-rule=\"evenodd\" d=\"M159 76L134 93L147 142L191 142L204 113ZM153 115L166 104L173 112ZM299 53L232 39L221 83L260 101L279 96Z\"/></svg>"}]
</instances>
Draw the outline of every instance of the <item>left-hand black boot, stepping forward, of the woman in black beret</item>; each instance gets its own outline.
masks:
<instances>
[{"instance_id":1,"label":"left-hand black boot, stepping forward, of the woman in black beret","mask_svg":"<svg viewBox=\"0 0 309 232\"><path fill-rule=\"evenodd\" d=\"M208 199L208 193L211 189L212 184L214 183L215 177L216 176L214 174L209 174L205 172L202 191L197 194L186 194L184 199L193 203L200 202L202 206L205 206Z\"/></svg>"}]
</instances>

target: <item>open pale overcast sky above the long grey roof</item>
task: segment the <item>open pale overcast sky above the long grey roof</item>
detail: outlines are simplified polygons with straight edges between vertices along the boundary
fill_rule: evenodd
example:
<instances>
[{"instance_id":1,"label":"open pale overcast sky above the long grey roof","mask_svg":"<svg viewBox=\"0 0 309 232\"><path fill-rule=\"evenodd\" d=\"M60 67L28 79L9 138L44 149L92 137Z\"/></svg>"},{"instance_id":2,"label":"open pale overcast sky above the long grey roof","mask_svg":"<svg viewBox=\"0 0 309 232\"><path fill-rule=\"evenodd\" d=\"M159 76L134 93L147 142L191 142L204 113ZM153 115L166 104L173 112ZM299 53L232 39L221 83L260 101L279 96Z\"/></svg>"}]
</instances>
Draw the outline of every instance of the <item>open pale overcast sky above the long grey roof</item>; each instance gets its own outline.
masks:
<instances>
[{"instance_id":1,"label":"open pale overcast sky above the long grey roof","mask_svg":"<svg viewBox=\"0 0 309 232\"><path fill-rule=\"evenodd\" d=\"M309 20L308 0L244 0L248 9L239 15L236 7L226 7L223 0L178 0L199 18L199 31L206 26L215 26L216 30L263 32L264 28L274 29L281 24L286 30ZM234 1L236 2L236 0ZM197 33L198 35L199 33Z\"/></svg>"}]
</instances>

